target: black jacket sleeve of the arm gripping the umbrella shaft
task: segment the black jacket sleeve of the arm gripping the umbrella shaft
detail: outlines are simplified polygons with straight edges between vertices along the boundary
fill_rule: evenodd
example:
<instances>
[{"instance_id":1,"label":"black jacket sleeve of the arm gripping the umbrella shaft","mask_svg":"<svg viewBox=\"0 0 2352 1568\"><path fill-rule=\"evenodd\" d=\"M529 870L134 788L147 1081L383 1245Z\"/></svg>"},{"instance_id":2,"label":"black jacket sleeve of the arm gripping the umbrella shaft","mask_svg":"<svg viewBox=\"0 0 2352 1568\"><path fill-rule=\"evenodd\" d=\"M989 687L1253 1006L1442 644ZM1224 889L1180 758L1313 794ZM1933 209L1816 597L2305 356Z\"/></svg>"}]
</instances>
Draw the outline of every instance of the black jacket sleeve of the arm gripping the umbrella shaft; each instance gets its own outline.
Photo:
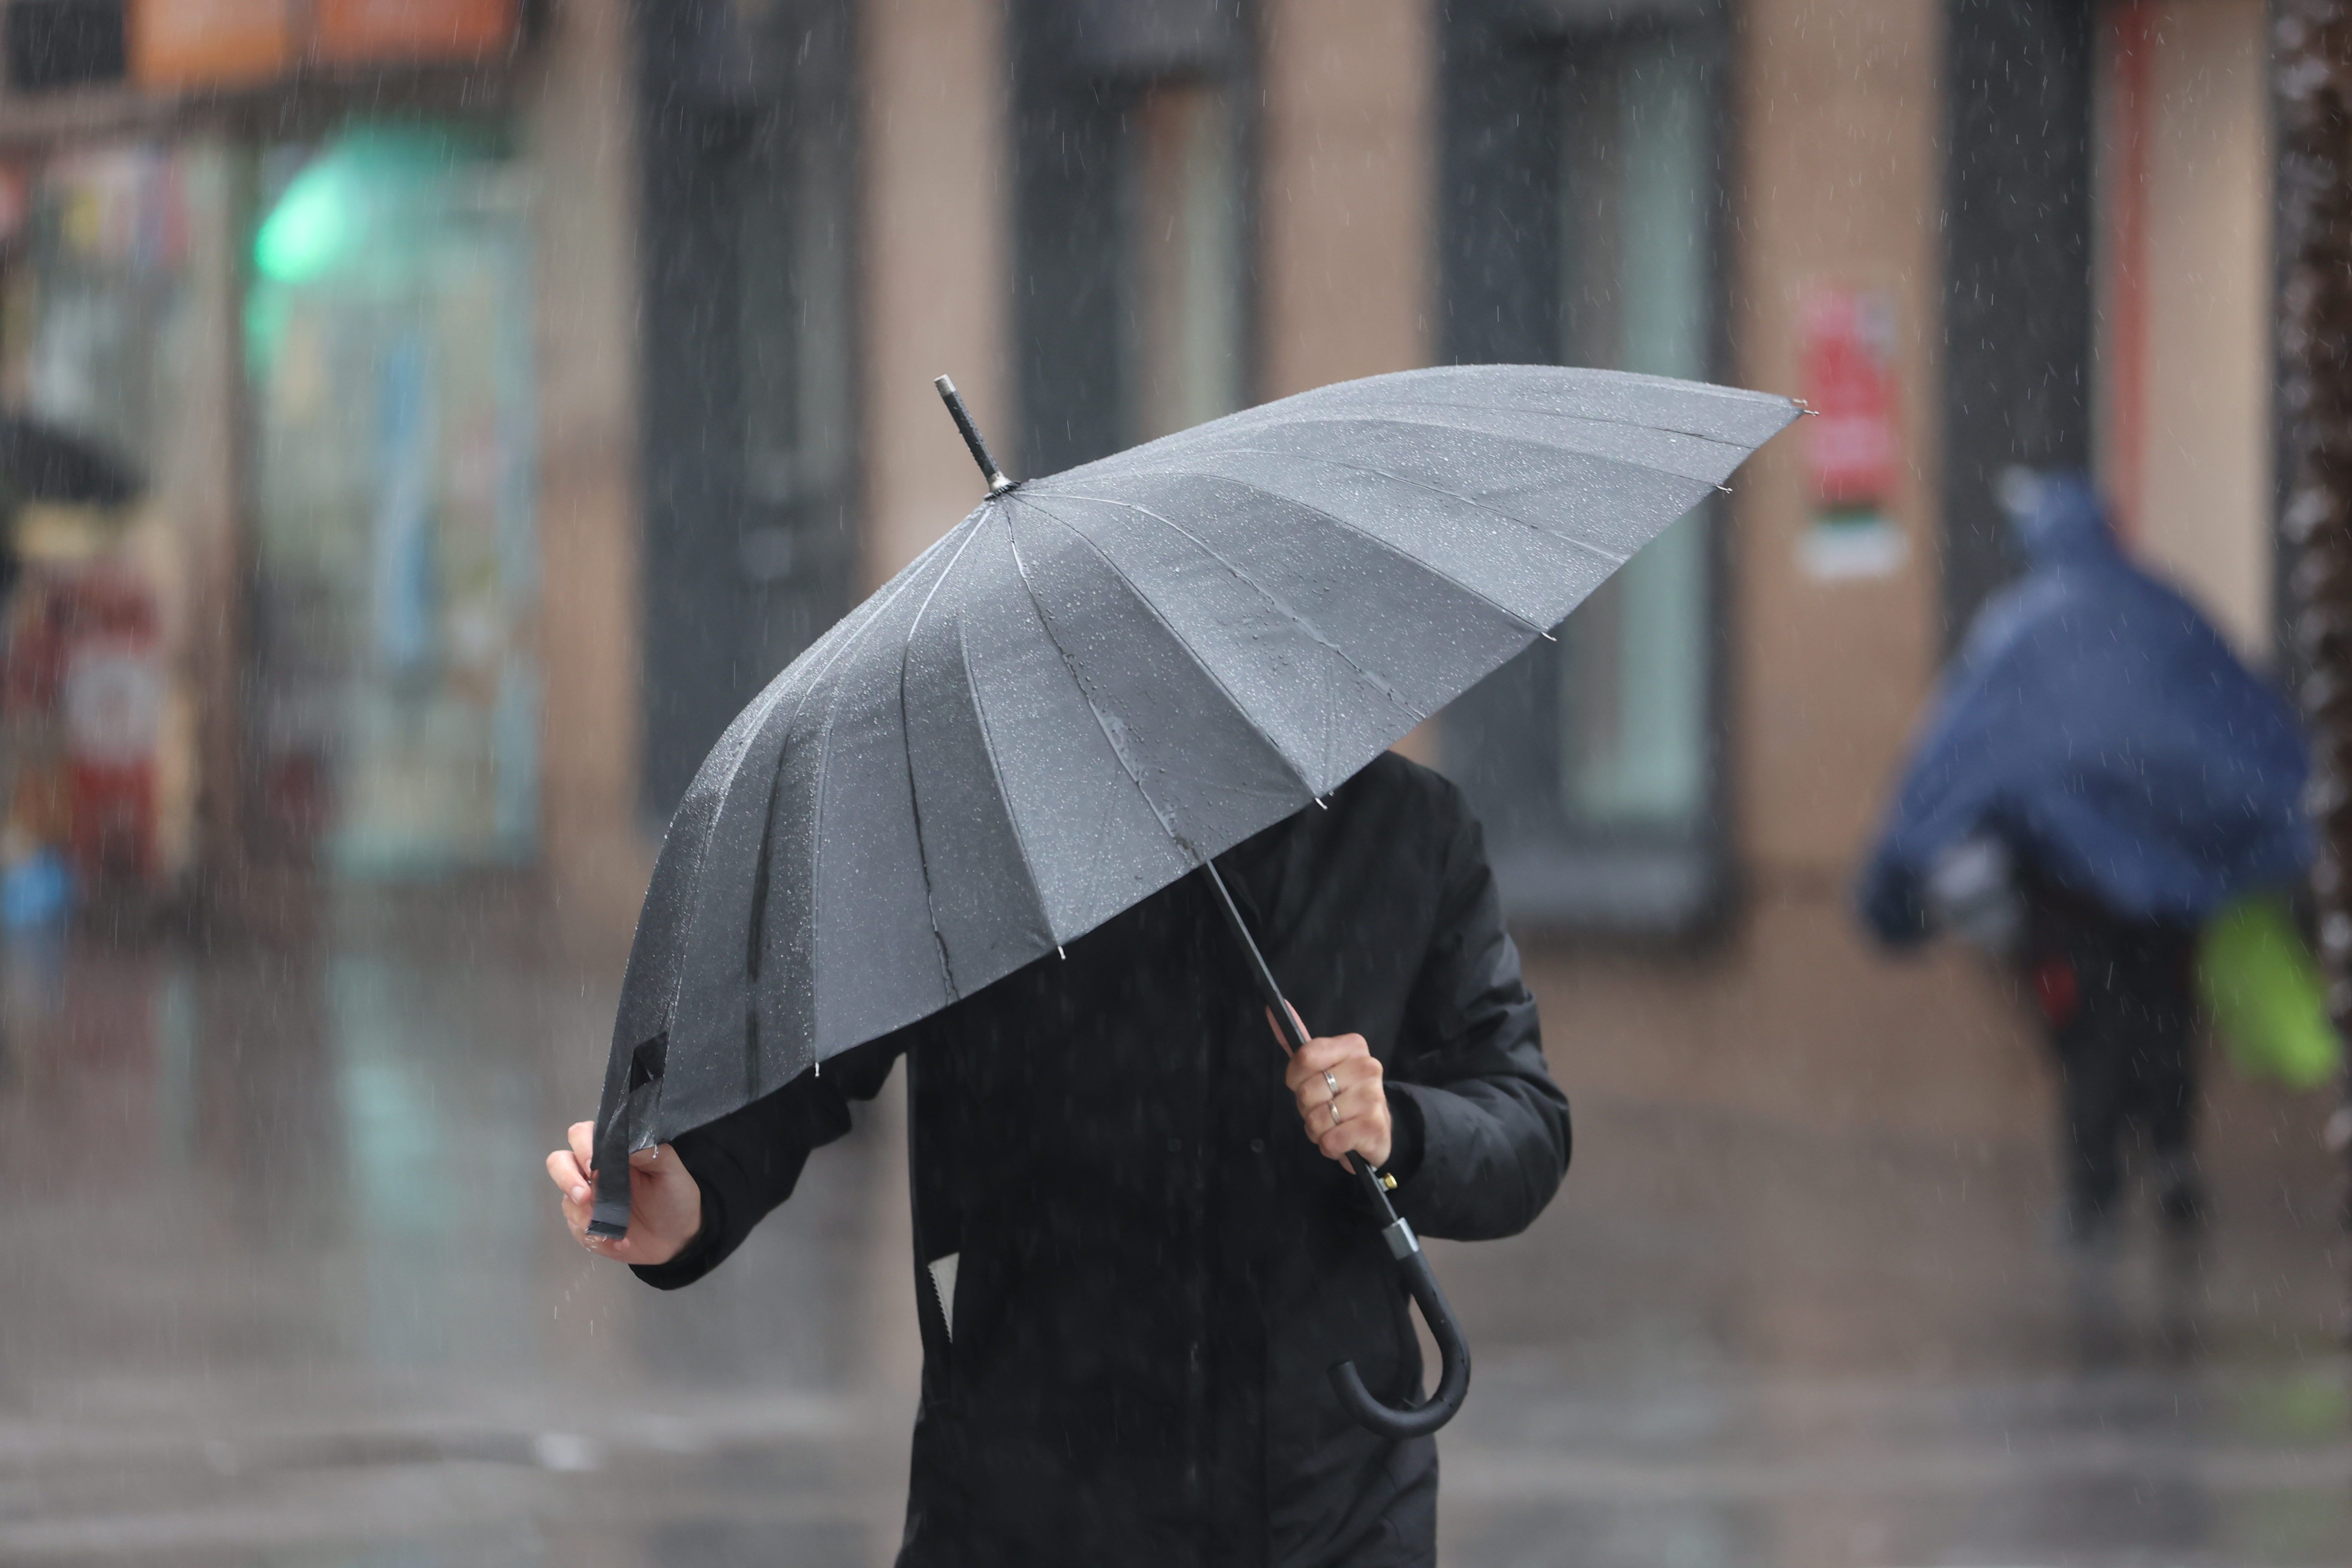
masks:
<instances>
[{"instance_id":1,"label":"black jacket sleeve of the arm gripping the umbrella shaft","mask_svg":"<svg viewBox=\"0 0 2352 1568\"><path fill-rule=\"evenodd\" d=\"M1437 931L1388 1079L1390 1171L1414 1229L1484 1241L1526 1229L1559 1190L1569 1098L1543 1065L1484 835L1461 797L1451 802Z\"/></svg>"}]
</instances>

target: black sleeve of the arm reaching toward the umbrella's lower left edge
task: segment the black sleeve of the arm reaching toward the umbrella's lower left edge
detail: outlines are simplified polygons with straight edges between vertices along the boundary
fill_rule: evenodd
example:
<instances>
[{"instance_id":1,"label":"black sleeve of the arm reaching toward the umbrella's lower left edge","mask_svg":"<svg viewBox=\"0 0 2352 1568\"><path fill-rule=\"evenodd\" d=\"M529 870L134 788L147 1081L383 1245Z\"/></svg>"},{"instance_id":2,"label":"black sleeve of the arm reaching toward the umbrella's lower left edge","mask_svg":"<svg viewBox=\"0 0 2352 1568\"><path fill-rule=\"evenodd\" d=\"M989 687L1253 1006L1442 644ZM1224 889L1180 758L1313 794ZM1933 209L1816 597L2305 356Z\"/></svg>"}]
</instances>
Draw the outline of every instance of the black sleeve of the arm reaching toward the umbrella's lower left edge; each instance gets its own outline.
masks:
<instances>
[{"instance_id":1,"label":"black sleeve of the arm reaching toward the umbrella's lower left edge","mask_svg":"<svg viewBox=\"0 0 2352 1568\"><path fill-rule=\"evenodd\" d=\"M633 1265L637 1279L675 1291L720 1267L771 1208L793 1197L809 1152L849 1131L849 1103L873 1100L903 1051L901 1034L842 1051L776 1093L682 1133L673 1147L703 1192L703 1227L668 1262Z\"/></svg>"}]
</instances>

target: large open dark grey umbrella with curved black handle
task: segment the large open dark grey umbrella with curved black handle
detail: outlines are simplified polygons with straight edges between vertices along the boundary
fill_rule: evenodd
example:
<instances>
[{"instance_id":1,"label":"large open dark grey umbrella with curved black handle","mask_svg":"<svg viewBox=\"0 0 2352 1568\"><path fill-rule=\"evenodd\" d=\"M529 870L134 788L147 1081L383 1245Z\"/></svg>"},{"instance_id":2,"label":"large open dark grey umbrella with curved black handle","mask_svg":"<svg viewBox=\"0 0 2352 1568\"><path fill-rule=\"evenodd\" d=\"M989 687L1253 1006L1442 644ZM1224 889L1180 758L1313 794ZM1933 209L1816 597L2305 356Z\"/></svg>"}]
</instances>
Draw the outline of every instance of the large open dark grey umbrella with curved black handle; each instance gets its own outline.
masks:
<instances>
[{"instance_id":1,"label":"large open dark grey umbrella with curved black handle","mask_svg":"<svg viewBox=\"0 0 2352 1568\"><path fill-rule=\"evenodd\" d=\"M1188 872L1303 1039L1211 856L1329 795L1797 416L1785 397L1491 364L1284 397L1014 484L941 378L988 501L779 675L713 748L621 987L590 1232L628 1150L924 1018ZM1355 1161L1444 1352L1470 1356Z\"/></svg>"}]
</instances>

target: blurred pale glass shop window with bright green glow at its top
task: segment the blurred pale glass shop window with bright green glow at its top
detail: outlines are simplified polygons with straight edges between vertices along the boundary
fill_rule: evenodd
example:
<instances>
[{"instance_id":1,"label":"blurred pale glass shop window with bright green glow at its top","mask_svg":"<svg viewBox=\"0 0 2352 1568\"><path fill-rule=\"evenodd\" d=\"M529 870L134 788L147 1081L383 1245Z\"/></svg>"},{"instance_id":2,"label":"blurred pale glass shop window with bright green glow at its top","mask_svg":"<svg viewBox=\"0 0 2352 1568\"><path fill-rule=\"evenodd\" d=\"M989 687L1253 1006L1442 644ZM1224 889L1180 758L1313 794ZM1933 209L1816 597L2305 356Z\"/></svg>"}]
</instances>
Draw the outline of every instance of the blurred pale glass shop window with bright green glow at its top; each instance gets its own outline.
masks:
<instances>
[{"instance_id":1,"label":"blurred pale glass shop window with bright green glow at its top","mask_svg":"<svg viewBox=\"0 0 2352 1568\"><path fill-rule=\"evenodd\" d=\"M539 830L532 254L470 132L261 155L254 428L261 853L524 860Z\"/></svg>"}]
</instances>

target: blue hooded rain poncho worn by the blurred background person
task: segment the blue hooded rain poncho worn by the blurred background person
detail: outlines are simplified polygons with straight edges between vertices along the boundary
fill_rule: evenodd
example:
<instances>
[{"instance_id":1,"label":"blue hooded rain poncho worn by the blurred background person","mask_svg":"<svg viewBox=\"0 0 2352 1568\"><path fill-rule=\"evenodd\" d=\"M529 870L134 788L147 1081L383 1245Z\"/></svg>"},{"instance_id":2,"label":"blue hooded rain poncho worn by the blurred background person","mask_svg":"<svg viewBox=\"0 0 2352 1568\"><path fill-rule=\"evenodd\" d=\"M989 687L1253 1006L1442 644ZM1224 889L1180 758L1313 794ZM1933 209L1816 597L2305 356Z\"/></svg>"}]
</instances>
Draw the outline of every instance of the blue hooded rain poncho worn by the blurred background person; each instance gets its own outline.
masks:
<instances>
[{"instance_id":1,"label":"blue hooded rain poncho worn by the blurred background person","mask_svg":"<svg viewBox=\"0 0 2352 1568\"><path fill-rule=\"evenodd\" d=\"M2117 550L2082 475L2018 517L2030 571L1969 628L1863 872L1889 943L1929 933L1936 858L1997 835L2126 919L2194 924L2312 856L2293 712Z\"/></svg>"}]
</instances>

